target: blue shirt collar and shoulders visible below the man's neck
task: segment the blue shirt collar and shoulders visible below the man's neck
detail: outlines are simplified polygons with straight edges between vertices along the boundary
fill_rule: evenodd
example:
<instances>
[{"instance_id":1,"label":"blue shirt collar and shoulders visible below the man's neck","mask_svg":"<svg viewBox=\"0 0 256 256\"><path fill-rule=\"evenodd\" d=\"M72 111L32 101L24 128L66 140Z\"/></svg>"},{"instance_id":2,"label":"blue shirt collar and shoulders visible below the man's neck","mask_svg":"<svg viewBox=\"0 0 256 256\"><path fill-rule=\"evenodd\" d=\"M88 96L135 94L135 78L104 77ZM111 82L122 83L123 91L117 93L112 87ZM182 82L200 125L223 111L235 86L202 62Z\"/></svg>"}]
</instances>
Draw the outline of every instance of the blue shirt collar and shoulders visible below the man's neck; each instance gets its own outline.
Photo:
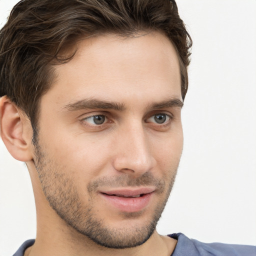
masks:
<instances>
[{"instance_id":1,"label":"blue shirt collar and shoulders visible below the man's neck","mask_svg":"<svg viewBox=\"0 0 256 256\"><path fill-rule=\"evenodd\" d=\"M204 243L189 239L182 233L169 234L168 236L177 240L176 247L170 256L256 256L256 246L252 245ZM33 243L34 239L25 241L13 256L23 256L25 249Z\"/></svg>"}]
</instances>

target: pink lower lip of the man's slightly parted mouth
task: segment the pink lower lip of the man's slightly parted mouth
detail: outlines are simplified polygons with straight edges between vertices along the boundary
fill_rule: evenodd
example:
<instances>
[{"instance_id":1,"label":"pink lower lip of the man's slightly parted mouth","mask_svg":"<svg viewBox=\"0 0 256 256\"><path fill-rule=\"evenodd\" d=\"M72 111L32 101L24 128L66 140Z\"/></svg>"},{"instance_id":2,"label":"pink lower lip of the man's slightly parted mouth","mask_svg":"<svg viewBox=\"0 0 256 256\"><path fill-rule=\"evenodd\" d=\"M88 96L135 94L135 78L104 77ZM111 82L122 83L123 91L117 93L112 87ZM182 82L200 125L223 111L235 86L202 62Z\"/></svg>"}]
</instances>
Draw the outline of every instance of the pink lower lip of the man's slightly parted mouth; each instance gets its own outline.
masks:
<instances>
[{"instance_id":1,"label":"pink lower lip of the man's slightly parted mouth","mask_svg":"<svg viewBox=\"0 0 256 256\"><path fill-rule=\"evenodd\" d=\"M149 204L152 193L147 193L139 197L122 197L103 193L101 195L108 203L121 211L137 212Z\"/></svg>"}]
</instances>

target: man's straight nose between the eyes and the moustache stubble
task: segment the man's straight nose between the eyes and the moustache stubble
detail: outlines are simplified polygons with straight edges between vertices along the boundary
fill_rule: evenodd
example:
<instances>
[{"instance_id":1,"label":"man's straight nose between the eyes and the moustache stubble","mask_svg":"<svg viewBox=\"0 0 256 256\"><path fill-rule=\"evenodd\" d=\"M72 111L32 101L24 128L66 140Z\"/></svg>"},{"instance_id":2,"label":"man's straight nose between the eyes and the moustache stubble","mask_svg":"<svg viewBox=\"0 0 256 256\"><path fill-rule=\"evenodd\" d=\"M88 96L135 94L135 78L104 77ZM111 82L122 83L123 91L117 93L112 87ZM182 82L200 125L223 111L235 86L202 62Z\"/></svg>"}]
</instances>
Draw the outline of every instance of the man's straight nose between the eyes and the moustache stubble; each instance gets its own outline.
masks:
<instances>
[{"instance_id":1,"label":"man's straight nose between the eyes and the moustache stubble","mask_svg":"<svg viewBox=\"0 0 256 256\"><path fill-rule=\"evenodd\" d=\"M142 124L123 128L115 143L113 166L117 171L140 176L156 165L152 145Z\"/></svg>"}]
</instances>

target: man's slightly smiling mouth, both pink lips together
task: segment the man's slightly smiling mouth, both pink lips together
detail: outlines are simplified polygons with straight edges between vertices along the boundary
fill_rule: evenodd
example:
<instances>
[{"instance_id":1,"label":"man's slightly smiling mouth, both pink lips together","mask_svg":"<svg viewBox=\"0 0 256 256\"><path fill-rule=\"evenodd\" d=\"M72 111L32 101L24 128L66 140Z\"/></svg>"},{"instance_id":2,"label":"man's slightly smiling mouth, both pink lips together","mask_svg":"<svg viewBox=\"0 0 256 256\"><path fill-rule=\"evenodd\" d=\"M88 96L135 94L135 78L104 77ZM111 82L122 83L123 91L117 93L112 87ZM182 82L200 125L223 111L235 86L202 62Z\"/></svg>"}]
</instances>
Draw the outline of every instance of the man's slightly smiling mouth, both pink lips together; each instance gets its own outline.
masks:
<instances>
[{"instance_id":1,"label":"man's slightly smiling mouth, both pink lips together","mask_svg":"<svg viewBox=\"0 0 256 256\"><path fill-rule=\"evenodd\" d=\"M149 205L153 192L153 188L116 189L100 191L100 195L108 208L122 212L137 212Z\"/></svg>"}]
</instances>

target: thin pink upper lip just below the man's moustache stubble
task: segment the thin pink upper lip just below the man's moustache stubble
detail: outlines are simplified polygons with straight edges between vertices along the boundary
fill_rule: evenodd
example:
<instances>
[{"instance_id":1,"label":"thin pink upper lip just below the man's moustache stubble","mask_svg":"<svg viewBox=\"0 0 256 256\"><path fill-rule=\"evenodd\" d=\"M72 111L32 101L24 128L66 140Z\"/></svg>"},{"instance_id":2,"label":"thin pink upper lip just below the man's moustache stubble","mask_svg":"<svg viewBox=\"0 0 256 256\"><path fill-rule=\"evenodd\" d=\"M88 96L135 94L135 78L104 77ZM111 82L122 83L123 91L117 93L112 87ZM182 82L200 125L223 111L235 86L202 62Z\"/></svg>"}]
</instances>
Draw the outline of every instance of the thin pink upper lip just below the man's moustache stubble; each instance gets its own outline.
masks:
<instances>
[{"instance_id":1,"label":"thin pink upper lip just below the man's moustache stubble","mask_svg":"<svg viewBox=\"0 0 256 256\"><path fill-rule=\"evenodd\" d=\"M101 190L100 193L107 195L118 196L135 196L140 194L148 194L155 190L153 187L140 187L140 188L116 188L111 190Z\"/></svg>"}]
</instances>

